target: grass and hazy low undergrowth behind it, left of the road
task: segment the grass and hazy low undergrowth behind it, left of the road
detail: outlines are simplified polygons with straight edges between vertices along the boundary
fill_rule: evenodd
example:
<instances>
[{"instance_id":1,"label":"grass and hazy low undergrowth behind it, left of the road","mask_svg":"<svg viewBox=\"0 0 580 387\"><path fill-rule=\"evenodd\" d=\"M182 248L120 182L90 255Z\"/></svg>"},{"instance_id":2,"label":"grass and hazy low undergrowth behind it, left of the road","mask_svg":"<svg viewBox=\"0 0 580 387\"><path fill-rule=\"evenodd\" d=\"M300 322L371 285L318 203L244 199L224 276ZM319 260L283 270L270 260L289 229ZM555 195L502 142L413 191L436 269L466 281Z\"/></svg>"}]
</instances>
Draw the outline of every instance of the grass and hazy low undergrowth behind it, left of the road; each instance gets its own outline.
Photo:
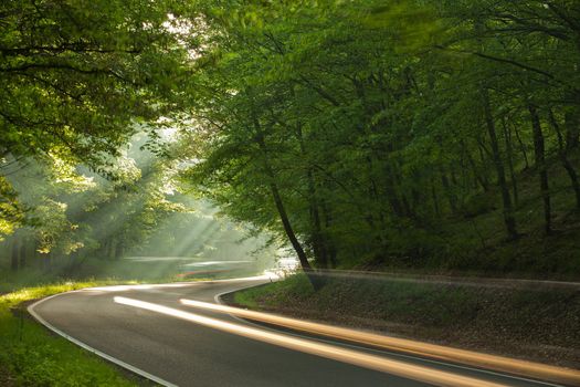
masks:
<instances>
[{"instance_id":1,"label":"grass and hazy low undergrowth behind it, left of the road","mask_svg":"<svg viewBox=\"0 0 580 387\"><path fill-rule=\"evenodd\" d=\"M102 266L95 268L97 263ZM85 260L84 264L75 265L73 270L66 269L70 268L52 266L51 270L44 270L30 266L14 273L0 268L0 386L154 385L137 377L133 379L116 366L48 332L28 317L27 305L32 300L92 286L190 282L231 276L178 278L178 271L162 262L146 265L123 261L103 263L97 259ZM96 279L91 278L91 273L98 275ZM129 278L131 280L127 280Z\"/></svg>"}]
</instances>

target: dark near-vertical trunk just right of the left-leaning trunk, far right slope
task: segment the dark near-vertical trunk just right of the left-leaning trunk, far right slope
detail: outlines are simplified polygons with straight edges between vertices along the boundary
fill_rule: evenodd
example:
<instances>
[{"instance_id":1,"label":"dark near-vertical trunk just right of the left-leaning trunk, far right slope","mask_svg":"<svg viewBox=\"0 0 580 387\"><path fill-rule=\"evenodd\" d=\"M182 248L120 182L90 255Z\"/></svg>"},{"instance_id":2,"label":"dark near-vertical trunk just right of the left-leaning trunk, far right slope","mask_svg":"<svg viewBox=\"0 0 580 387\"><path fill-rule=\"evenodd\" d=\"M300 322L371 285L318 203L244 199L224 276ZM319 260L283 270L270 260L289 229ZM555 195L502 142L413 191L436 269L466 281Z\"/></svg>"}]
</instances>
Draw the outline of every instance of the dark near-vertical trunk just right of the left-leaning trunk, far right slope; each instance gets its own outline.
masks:
<instances>
[{"instance_id":1,"label":"dark near-vertical trunk just right of the left-leaning trunk, far right slope","mask_svg":"<svg viewBox=\"0 0 580 387\"><path fill-rule=\"evenodd\" d=\"M551 205L550 188L548 185L548 171L545 158L544 134L541 133L540 117L534 104L528 104L528 112L531 119L531 133L534 136L534 158L540 182L541 199L544 201L544 230L547 234L551 233Z\"/></svg>"}]
</instances>

